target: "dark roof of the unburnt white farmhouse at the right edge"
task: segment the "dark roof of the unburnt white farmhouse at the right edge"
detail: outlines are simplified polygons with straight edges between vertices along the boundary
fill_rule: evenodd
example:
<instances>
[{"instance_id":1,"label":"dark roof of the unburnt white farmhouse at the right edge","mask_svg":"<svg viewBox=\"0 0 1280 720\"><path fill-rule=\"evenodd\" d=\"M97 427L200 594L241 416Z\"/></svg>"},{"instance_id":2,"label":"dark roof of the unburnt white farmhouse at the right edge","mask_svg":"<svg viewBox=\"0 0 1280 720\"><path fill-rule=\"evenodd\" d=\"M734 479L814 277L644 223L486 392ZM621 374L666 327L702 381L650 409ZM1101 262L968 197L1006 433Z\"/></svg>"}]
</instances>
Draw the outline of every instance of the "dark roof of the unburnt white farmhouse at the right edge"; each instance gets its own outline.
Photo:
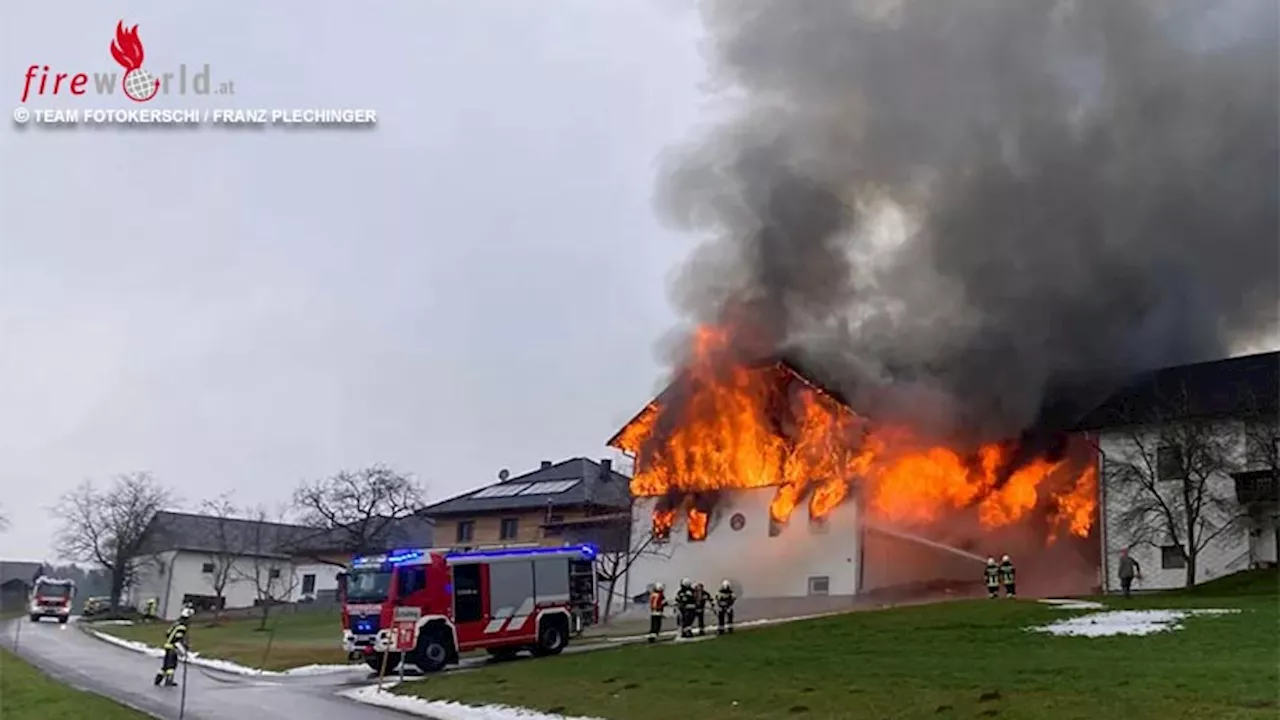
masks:
<instances>
[{"instance_id":1,"label":"dark roof of the unburnt white farmhouse at the right edge","mask_svg":"<svg viewBox=\"0 0 1280 720\"><path fill-rule=\"evenodd\" d=\"M1280 410L1280 351L1176 365L1135 377L1089 411L1078 430L1121 425L1276 415Z\"/></svg>"}]
</instances>

